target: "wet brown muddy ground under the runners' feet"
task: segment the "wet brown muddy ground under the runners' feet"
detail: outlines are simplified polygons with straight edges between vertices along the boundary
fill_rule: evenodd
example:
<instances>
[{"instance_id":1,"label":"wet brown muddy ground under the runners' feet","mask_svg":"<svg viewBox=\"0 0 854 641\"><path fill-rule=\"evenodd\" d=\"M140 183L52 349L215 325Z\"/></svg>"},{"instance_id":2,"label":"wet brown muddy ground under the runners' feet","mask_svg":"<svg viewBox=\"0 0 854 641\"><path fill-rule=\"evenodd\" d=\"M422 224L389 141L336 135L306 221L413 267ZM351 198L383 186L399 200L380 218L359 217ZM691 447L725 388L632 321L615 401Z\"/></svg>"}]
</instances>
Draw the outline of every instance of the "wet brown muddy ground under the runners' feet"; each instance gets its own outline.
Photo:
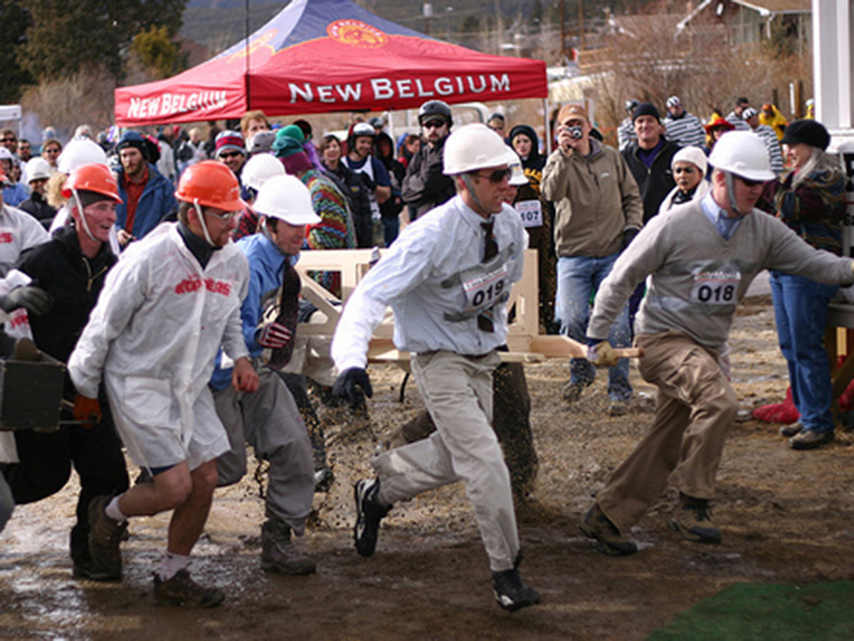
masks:
<instances>
[{"instance_id":1,"label":"wet brown muddy ground under the runners' feet","mask_svg":"<svg viewBox=\"0 0 854 641\"><path fill-rule=\"evenodd\" d=\"M769 298L741 309L731 341L744 408L779 399L786 368L776 348ZM560 397L565 363L526 368L541 465L535 506L519 515L523 573L543 603L514 615L493 601L486 557L463 488L453 485L396 507L371 559L353 548L352 483L368 459L420 407L415 385L401 406L402 373L371 368L377 394L370 426L328 434L336 483L316 495L301 546L318 563L307 578L260 571L263 517L258 485L218 491L194 575L227 591L213 610L156 607L151 572L167 517L132 522L126 577L98 584L71 578L67 532L76 483L21 506L0 534L2 638L644 638L674 615L735 581L807 583L854 579L854 435L798 452L777 426L747 420L724 452L714 516L719 545L682 541L668 528L670 490L631 532L635 556L595 550L577 522L651 419L652 388L633 373L629 416L605 415L605 377L576 406Z\"/></svg>"}]
</instances>

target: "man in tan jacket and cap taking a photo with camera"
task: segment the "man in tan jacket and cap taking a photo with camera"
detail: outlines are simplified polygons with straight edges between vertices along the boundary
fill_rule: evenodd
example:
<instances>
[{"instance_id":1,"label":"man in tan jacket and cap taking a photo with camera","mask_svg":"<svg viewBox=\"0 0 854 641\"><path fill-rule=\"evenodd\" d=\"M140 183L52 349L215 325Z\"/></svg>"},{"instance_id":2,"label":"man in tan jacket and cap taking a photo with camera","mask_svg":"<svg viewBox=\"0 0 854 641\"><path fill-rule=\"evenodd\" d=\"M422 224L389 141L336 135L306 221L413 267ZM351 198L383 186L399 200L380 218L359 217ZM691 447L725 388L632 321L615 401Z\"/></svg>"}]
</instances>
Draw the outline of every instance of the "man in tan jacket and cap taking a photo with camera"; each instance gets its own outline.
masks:
<instances>
[{"instance_id":1,"label":"man in tan jacket and cap taking a photo with camera","mask_svg":"<svg viewBox=\"0 0 854 641\"><path fill-rule=\"evenodd\" d=\"M555 207L555 315L561 332L579 341L587 334L591 295L643 224L635 179L617 150L590 138L592 128L582 105L564 105L558 113L558 149L548 157L542 177L543 195ZM615 347L631 342L628 307L614 321L608 339ZM572 359L564 399L575 403L595 376L588 361ZM631 396L629 362L621 359L608 370L608 413L625 414Z\"/></svg>"}]
</instances>

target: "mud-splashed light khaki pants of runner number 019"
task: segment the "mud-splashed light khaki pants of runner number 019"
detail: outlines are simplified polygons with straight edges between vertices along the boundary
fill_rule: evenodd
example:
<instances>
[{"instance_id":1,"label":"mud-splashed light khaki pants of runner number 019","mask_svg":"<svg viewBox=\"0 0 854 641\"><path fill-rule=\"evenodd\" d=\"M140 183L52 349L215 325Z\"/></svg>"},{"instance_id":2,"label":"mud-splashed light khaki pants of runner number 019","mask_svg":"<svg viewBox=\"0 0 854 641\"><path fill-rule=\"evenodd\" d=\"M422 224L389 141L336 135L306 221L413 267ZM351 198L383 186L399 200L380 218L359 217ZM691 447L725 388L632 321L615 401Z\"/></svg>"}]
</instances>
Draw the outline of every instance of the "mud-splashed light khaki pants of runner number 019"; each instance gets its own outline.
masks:
<instances>
[{"instance_id":1,"label":"mud-splashed light khaki pants of runner number 019","mask_svg":"<svg viewBox=\"0 0 854 641\"><path fill-rule=\"evenodd\" d=\"M510 474L492 419L496 352L479 358L448 351L412 357L418 391L436 423L429 438L374 459L389 503L462 479L493 572L508 570L519 550Z\"/></svg>"}]
</instances>

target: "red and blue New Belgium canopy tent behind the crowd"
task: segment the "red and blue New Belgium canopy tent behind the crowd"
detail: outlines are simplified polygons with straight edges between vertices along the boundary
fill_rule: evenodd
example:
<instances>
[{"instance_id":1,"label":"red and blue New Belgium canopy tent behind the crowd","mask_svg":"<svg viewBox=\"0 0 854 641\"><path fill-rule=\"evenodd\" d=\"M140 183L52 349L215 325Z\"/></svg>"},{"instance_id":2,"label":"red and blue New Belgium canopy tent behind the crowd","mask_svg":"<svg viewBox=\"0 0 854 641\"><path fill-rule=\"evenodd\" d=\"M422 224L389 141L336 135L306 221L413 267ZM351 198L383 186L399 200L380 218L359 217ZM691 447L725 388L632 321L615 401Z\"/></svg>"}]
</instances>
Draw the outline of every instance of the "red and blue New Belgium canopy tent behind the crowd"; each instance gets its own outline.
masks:
<instances>
[{"instance_id":1,"label":"red and blue New Belgium canopy tent behind the crowd","mask_svg":"<svg viewBox=\"0 0 854 641\"><path fill-rule=\"evenodd\" d=\"M292 0L244 40L173 78L115 91L119 126L546 98L546 63L429 38L346 0Z\"/></svg>"}]
</instances>

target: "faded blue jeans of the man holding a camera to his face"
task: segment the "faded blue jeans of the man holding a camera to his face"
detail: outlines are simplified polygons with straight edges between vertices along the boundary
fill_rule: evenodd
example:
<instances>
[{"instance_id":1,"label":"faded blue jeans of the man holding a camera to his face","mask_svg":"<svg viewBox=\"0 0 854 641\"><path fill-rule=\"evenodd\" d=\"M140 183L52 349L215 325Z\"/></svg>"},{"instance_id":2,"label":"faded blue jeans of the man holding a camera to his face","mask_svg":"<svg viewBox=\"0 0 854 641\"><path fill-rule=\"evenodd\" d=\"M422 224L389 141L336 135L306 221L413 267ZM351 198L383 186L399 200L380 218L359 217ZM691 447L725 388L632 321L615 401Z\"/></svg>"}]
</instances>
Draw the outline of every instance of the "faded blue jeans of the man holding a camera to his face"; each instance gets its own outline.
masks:
<instances>
[{"instance_id":1,"label":"faded blue jeans of the man holding a camera to his face","mask_svg":"<svg viewBox=\"0 0 854 641\"><path fill-rule=\"evenodd\" d=\"M591 256L561 256L558 258L558 291L556 320L560 321L560 333L582 343L587 336L590 320L590 297L599 289L619 254L602 258ZM629 306L611 324L608 341L614 347L629 347ZM590 385L596 378L596 368L584 358L570 360L570 382ZM611 400L628 401L632 396L629 383L629 359L621 358L617 367L608 368L608 396Z\"/></svg>"}]
</instances>

